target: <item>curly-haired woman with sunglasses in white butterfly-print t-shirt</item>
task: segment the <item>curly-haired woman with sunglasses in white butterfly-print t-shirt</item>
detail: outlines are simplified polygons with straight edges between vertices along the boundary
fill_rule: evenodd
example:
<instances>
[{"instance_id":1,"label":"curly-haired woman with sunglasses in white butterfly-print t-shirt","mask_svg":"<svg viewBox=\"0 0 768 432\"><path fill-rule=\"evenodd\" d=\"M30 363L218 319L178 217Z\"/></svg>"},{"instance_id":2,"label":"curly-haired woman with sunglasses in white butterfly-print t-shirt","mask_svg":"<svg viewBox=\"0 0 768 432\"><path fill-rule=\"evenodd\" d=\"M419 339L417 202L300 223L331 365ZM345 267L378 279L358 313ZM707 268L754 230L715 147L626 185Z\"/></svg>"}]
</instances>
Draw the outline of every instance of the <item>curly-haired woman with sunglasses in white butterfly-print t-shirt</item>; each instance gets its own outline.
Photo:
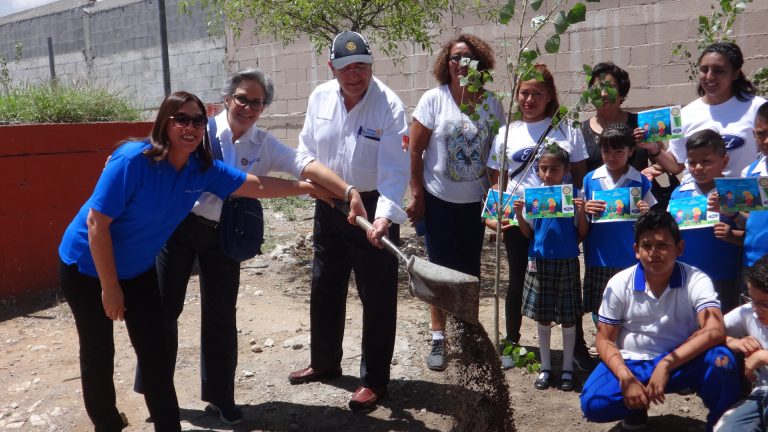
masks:
<instances>
[{"instance_id":1,"label":"curly-haired woman with sunglasses in white butterfly-print t-shirt","mask_svg":"<svg viewBox=\"0 0 768 432\"><path fill-rule=\"evenodd\" d=\"M423 219L429 260L480 276L483 247L482 206L488 189L485 161L495 131L504 122L504 111L484 89L469 92L460 84L468 63L493 69L491 47L482 39L460 34L437 54L432 74L439 87L428 90L413 112L410 130L411 193L408 218ZM460 106L467 104L479 118L473 120ZM470 113L471 114L471 113ZM432 346L427 367L444 370L445 313L430 306Z\"/></svg>"}]
</instances>

